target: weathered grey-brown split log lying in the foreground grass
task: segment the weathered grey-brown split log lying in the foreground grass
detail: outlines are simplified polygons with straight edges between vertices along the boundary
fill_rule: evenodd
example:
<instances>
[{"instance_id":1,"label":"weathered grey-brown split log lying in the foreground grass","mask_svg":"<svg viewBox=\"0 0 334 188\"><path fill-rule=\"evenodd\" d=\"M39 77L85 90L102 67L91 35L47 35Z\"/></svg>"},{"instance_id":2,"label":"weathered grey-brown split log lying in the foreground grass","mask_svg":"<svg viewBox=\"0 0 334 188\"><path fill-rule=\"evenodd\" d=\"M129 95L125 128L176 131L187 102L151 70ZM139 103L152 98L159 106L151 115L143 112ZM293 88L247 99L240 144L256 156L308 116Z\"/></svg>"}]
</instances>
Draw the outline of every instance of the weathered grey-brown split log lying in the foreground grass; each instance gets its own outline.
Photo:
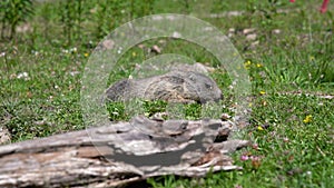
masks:
<instances>
[{"instance_id":1,"label":"weathered grey-brown split log lying in the foreground grass","mask_svg":"<svg viewBox=\"0 0 334 188\"><path fill-rule=\"evenodd\" d=\"M213 142L217 129L228 133L230 127L220 120L136 117L1 146L0 187L116 187L161 175L199 177L239 169L226 154L249 142Z\"/></svg>"}]
</instances>

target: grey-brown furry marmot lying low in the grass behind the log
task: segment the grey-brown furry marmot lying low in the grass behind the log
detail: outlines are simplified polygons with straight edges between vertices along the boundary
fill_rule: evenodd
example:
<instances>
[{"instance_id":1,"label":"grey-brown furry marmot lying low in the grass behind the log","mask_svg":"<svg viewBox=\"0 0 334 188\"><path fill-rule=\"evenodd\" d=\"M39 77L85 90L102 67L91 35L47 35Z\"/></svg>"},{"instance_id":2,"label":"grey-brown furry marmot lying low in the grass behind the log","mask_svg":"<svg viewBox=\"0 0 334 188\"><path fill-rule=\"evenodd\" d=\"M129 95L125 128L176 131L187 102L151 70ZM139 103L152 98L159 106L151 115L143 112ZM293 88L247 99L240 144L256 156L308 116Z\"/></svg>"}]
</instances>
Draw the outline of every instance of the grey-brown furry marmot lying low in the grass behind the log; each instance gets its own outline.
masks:
<instances>
[{"instance_id":1,"label":"grey-brown furry marmot lying low in the grass behind the log","mask_svg":"<svg viewBox=\"0 0 334 188\"><path fill-rule=\"evenodd\" d=\"M196 71L173 70L161 76L143 79L124 79L106 91L109 100L165 100L175 102L217 101L223 98L216 82Z\"/></svg>"}]
</instances>

